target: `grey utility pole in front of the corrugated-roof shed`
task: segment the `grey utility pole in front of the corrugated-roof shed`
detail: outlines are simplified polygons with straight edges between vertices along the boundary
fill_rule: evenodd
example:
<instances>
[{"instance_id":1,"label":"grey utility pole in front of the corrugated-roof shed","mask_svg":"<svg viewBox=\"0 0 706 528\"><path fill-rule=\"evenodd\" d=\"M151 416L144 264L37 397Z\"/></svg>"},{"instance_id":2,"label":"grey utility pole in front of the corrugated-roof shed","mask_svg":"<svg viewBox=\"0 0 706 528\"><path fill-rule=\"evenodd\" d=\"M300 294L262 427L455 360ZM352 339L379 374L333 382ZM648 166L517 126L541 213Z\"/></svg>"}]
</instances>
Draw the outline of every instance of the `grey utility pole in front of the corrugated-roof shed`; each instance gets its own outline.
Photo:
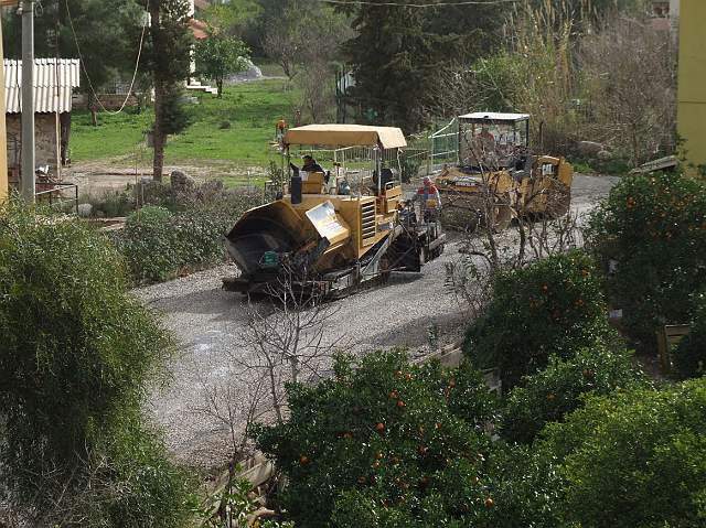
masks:
<instances>
[{"instance_id":1,"label":"grey utility pole in front of the corrugated-roof shed","mask_svg":"<svg viewBox=\"0 0 706 528\"><path fill-rule=\"evenodd\" d=\"M22 1L22 196L34 203L34 0Z\"/></svg>"}]
</instances>

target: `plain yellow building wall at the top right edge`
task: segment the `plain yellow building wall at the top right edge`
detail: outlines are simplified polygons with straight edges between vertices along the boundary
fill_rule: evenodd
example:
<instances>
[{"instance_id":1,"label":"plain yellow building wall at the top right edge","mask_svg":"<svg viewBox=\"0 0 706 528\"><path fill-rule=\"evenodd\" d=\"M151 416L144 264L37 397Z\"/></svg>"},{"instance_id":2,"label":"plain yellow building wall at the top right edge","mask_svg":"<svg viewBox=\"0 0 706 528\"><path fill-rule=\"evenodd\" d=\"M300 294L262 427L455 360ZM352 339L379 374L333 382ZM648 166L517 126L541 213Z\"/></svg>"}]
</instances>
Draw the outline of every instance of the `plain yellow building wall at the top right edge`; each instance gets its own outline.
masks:
<instances>
[{"instance_id":1,"label":"plain yellow building wall at the top right edge","mask_svg":"<svg viewBox=\"0 0 706 528\"><path fill-rule=\"evenodd\" d=\"M686 141L687 160L706 164L706 1L680 6L677 131Z\"/></svg>"}]
</instances>

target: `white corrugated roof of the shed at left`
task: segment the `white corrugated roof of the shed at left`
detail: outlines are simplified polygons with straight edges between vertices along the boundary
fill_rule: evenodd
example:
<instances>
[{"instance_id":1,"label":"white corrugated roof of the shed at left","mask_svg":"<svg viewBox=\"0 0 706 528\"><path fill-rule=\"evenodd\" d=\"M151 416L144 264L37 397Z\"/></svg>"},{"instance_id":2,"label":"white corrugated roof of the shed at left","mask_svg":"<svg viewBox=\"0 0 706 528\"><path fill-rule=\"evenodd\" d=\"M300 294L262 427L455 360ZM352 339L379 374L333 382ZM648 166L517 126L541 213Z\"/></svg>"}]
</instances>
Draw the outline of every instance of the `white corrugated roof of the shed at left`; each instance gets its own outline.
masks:
<instances>
[{"instance_id":1,"label":"white corrugated roof of the shed at left","mask_svg":"<svg viewBox=\"0 0 706 528\"><path fill-rule=\"evenodd\" d=\"M22 111L22 61L6 58L4 106L8 114ZM73 89L81 85L77 58L34 60L34 111L71 111Z\"/></svg>"}]
</instances>

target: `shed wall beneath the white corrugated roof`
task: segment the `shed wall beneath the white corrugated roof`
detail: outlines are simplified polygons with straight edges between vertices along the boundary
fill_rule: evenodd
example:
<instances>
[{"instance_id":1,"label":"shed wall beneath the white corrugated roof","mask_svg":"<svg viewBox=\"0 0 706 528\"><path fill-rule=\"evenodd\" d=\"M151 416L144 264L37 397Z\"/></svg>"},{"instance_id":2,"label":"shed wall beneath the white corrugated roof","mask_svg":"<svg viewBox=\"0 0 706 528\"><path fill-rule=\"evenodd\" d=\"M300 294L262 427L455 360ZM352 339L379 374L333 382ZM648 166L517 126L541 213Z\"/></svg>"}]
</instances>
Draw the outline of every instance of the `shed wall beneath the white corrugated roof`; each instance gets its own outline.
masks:
<instances>
[{"instance_id":1,"label":"shed wall beneath the white corrugated roof","mask_svg":"<svg viewBox=\"0 0 706 528\"><path fill-rule=\"evenodd\" d=\"M8 166L15 168L22 162L21 121L19 114L6 114L8 139ZM58 163L58 143L56 141L56 114L35 114L35 159L38 165L49 164L55 171Z\"/></svg>"}]
</instances>

